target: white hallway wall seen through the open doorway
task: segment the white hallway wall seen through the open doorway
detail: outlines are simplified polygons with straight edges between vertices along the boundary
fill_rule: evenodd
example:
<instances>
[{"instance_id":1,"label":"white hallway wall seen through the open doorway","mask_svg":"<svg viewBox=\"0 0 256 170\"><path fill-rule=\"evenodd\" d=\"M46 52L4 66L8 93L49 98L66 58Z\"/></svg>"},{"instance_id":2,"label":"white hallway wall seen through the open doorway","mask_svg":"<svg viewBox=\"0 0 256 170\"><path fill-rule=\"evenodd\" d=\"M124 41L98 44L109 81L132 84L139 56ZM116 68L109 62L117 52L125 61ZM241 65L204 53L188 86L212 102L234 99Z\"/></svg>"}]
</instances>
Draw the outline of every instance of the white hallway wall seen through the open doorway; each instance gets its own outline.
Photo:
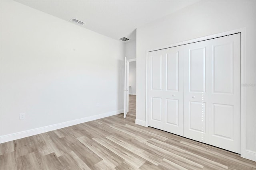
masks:
<instances>
[{"instance_id":1,"label":"white hallway wall seen through the open doorway","mask_svg":"<svg viewBox=\"0 0 256 170\"><path fill-rule=\"evenodd\" d=\"M129 94L136 95L136 61L129 62Z\"/></svg>"}]
</instances>

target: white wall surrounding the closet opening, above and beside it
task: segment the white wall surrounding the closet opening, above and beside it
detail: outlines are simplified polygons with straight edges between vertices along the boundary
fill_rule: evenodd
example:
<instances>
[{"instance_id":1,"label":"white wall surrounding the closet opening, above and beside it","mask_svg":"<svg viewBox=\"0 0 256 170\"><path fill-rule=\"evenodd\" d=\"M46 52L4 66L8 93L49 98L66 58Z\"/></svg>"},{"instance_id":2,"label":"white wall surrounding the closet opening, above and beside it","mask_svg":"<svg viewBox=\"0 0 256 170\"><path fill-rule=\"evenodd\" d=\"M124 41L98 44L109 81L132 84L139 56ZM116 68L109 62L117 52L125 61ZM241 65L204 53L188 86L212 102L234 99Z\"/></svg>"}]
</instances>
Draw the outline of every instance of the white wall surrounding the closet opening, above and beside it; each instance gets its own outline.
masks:
<instances>
[{"instance_id":1,"label":"white wall surrounding the closet opening, above and beside it","mask_svg":"<svg viewBox=\"0 0 256 170\"><path fill-rule=\"evenodd\" d=\"M146 50L246 28L246 83L256 79L256 1L200 1L178 12L137 28L136 122L145 122ZM256 87L246 88L246 149L256 153Z\"/></svg>"}]
</instances>

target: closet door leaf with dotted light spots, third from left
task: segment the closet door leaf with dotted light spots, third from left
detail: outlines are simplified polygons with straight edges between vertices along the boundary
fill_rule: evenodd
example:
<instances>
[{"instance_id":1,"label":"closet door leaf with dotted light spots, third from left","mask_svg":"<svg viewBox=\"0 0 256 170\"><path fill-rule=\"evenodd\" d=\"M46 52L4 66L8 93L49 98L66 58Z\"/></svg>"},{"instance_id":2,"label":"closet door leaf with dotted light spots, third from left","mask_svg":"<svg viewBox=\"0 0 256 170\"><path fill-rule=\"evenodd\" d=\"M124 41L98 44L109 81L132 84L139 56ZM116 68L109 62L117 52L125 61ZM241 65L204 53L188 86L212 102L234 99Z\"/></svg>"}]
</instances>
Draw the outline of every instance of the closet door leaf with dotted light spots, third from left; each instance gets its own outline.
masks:
<instances>
[{"instance_id":1,"label":"closet door leaf with dotted light spots, third from left","mask_svg":"<svg viewBox=\"0 0 256 170\"><path fill-rule=\"evenodd\" d=\"M184 137L203 143L209 142L206 42L184 46Z\"/></svg>"}]
</instances>

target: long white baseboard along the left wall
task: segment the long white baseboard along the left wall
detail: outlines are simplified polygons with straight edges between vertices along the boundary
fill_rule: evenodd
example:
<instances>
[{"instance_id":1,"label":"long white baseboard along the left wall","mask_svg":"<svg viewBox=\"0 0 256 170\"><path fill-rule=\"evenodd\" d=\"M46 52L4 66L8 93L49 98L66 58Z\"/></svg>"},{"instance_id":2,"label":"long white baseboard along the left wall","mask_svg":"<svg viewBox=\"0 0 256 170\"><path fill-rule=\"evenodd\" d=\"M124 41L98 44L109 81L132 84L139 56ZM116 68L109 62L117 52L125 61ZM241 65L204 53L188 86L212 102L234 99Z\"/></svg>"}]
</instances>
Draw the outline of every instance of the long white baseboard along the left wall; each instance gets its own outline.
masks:
<instances>
[{"instance_id":1,"label":"long white baseboard along the left wall","mask_svg":"<svg viewBox=\"0 0 256 170\"><path fill-rule=\"evenodd\" d=\"M100 115L93 115L93 116L89 116L89 117L84 117L84 118L76 119L76 120L72 120L72 121L66 121L66 122L62 122L62 123L58 123L58 124L54 124L54 125L49 125L49 126L45 126L45 127L39 127L39 128L36 128L36 129L30 129L30 130L27 130L27 131L21 131L21 132L17 132L17 133L8 134L8 135L2 135L2 136L0 136L0 143L13 141L13 140L16 140L16 139L29 137L29 136L32 136L32 135L38 135L40 133L54 131L56 129L61 129L61 128L64 128L64 127L73 126L73 125L77 125L77 124L80 124L80 123L93 121L93 120L96 120L96 119L101 119L101 118L112 116L112 115L117 115L117 114L120 114L120 113L124 113L124 109L111 111L111 112L107 112L107 113L102 113Z\"/></svg>"}]
</instances>

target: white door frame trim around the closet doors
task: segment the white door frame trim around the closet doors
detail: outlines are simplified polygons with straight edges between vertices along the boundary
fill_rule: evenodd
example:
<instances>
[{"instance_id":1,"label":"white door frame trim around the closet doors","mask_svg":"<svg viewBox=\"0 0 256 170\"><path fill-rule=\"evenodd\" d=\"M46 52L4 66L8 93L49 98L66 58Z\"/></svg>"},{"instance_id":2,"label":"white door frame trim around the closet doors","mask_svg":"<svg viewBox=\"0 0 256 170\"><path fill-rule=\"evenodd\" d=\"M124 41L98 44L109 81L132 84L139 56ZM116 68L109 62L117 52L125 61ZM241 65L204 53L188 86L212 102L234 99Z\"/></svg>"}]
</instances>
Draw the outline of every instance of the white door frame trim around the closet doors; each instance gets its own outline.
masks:
<instances>
[{"instance_id":1,"label":"white door frame trim around the closet doors","mask_svg":"<svg viewBox=\"0 0 256 170\"><path fill-rule=\"evenodd\" d=\"M204 41L207 39L222 37L222 36L226 36L234 33L240 33L240 156L243 158L246 158L246 107L245 107L246 106L246 88L241 88L241 84L246 83L246 76L245 76L246 28L245 27L146 50L146 117L145 117L146 127L148 127L148 53L150 51L175 47L179 45L185 45L188 43L195 43L198 41Z\"/></svg>"}]
</instances>

